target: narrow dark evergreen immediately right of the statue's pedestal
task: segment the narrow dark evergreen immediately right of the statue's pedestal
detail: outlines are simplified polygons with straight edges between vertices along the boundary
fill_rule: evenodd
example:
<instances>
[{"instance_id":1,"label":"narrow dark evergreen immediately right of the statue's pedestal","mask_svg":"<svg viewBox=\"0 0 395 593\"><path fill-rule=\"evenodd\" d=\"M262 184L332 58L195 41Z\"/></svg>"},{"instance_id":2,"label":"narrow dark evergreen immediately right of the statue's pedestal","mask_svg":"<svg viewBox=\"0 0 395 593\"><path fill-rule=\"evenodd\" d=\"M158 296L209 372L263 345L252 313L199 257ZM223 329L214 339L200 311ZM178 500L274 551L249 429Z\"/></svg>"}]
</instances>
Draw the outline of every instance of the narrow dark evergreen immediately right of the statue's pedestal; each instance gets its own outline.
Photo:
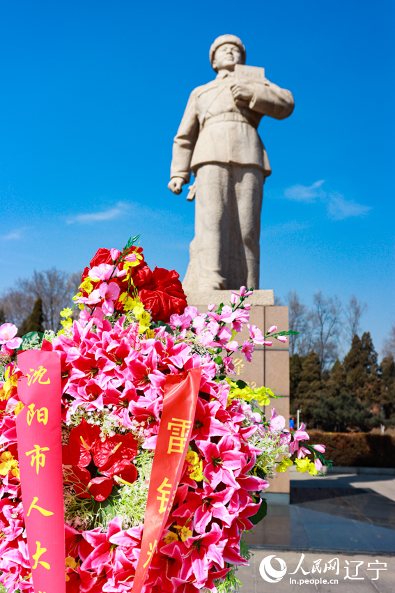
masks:
<instances>
[{"instance_id":1,"label":"narrow dark evergreen immediately right of the statue's pedestal","mask_svg":"<svg viewBox=\"0 0 395 593\"><path fill-rule=\"evenodd\" d=\"M302 362L300 380L295 394L295 406L302 410L302 422L312 424L312 408L320 395L322 387L320 357L311 351Z\"/></svg>"}]
</instances>

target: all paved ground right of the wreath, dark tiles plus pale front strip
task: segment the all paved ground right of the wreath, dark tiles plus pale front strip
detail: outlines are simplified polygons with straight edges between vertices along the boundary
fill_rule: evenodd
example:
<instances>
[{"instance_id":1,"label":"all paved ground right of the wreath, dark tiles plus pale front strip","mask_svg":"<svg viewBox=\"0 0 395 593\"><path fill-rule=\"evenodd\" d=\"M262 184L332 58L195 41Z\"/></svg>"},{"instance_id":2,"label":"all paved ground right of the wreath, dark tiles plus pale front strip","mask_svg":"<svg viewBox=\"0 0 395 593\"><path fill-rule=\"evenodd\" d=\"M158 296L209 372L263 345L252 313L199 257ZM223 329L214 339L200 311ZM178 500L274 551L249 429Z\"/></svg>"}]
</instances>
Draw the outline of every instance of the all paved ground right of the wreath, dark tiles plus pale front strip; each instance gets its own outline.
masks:
<instances>
[{"instance_id":1,"label":"all paved ground right of the wreath, dark tiles plus pale front strip","mask_svg":"<svg viewBox=\"0 0 395 593\"><path fill-rule=\"evenodd\" d=\"M269 505L246 539L253 555L238 570L240 593L395 593L395 477L293 473L291 505ZM264 559L277 582L261 576Z\"/></svg>"}]
</instances>

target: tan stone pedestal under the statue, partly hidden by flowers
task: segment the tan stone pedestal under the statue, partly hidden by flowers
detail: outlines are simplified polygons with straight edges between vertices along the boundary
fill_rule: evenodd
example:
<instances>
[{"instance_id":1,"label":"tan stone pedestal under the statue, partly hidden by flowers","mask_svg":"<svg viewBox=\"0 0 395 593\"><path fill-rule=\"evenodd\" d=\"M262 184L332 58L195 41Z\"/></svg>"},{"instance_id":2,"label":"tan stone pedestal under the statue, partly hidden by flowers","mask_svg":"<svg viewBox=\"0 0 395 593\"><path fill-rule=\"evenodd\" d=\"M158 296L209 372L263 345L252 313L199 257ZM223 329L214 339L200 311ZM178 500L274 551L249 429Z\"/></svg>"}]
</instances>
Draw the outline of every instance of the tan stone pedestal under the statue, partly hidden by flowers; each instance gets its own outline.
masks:
<instances>
[{"instance_id":1,"label":"tan stone pedestal under the statue, partly hidden by flowers","mask_svg":"<svg viewBox=\"0 0 395 593\"><path fill-rule=\"evenodd\" d=\"M188 305L194 305L200 313L207 311L207 306L214 303L216 307L221 302L229 304L231 291L187 292ZM277 325L279 332L288 330L288 307L274 306L274 291L254 291L248 298L251 305L250 323L260 330L267 332L272 325ZM247 339L247 327L238 334L238 341ZM240 339L241 338L241 339ZM280 399L273 399L272 406L277 414L286 419L289 426L289 348L288 342L281 344L273 341L273 346L255 346L252 362L247 362L245 356L233 355L236 379L242 379L250 387L270 387ZM266 418L270 418L272 406L266 406ZM272 505L289 504L289 472L277 473L269 480L270 487L265 490L265 498ZM263 521L264 523L264 521Z\"/></svg>"}]
</instances>

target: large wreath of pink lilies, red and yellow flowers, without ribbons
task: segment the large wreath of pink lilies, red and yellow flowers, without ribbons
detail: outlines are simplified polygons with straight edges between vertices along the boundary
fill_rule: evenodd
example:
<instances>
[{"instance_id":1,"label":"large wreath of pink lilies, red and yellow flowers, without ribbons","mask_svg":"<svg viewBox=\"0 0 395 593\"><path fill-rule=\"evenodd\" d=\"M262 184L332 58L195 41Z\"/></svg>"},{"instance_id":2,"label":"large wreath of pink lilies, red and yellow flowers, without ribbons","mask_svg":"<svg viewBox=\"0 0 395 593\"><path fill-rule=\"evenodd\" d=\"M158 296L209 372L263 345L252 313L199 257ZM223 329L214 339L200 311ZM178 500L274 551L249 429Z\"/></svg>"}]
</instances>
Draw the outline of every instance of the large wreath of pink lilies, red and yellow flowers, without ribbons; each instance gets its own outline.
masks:
<instances>
[{"instance_id":1,"label":"large wreath of pink lilies, red and yellow flowers, without ribbons","mask_svg":"<svg viewBox=\"0 0 395 593\"><path fill-rule=\"evenodd\" d=\"M45 348L61 361L67 593L132 590L169 375L201 369L192 435L146 593L234 590L235 570L249 557L242 533L265 516L266 478L296 453L299 471L330 464L325 447L306 442L303 425L290 433L274 408L265 417L270 389L229 378L233 353L251 360L255 344L295 332L272 327L263 335L249 325L245 287L216 310L188 307L178 274L150 270L136 240L122 252L98 250L74 297L79 318L61 311L57 335L19 339L15 325L0 327L0 581L9 593L34 592L15 429L23 408L18 352ZM238 344L244 325L249 339Z\"/></svg>"}]
</instances>

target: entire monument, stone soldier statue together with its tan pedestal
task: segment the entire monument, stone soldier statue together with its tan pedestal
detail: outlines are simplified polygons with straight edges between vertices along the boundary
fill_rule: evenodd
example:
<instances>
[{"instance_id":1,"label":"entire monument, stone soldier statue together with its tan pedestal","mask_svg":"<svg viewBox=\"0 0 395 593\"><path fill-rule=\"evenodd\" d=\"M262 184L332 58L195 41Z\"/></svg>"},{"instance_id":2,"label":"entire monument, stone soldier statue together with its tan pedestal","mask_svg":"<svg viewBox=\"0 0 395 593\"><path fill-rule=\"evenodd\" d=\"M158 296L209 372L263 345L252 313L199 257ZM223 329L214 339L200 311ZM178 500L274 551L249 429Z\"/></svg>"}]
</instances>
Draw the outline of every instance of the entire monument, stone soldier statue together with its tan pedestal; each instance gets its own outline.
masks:
<instances>
[{"instance_id":1,"label":"entire monument, stone soldier statue together with its tan pedestal","mask_svg":"<svg viewBox=\"0 0 395 593\"><path fill-rule=\"evenodd\" d=\"M290 91L265 77L263 68L245 66L245 59L238 37L215 39L210 63L217 77L194 88L174 138L169 189L180 194L191 173L195 176L187 197L195 199L195 236L183 288L188 305L203 313L209 303L229 302L231 290L254 287L250 323L265 331L275 323L286 331L288 307L274 307L274 292L258 290L263 184L272 170L257 130L265 115L290 116L294 101ZM247 337L246 329L242 338ZM287 422L288 354L288 344L276 341L272 347L256 346L250 364L233 356L237 379L253 388L270 385L283 396L276 403ZM288 474L270 480L268 497L277 504L289 502Z\"/></svg>"}]
</instances>

